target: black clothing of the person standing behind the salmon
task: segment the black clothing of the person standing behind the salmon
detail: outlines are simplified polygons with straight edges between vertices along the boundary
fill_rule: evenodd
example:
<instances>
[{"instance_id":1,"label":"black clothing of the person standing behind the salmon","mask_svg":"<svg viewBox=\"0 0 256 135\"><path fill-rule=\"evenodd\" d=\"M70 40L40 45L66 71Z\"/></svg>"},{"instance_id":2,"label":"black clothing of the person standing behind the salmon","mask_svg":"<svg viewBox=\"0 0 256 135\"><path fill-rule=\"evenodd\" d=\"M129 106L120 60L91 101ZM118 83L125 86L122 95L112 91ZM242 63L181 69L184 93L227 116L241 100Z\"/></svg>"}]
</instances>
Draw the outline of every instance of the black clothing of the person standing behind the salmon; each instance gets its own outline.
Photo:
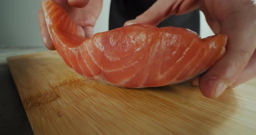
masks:
<instances>
[{"instance_id":1,"label":"black clothing of the person standing behind the salmon","mask_svg":"<svg viewBox=\"0 0 256 135\"><path fill-rule=\"evenodd\" d=\"M122 27L130 19L135 19L148 10L156 0L111 0L109 14L109 30ZM158 27L176 26L193 30L200 34L199 10L180 16L170 16Z\"/></svg>"}]
</instances>

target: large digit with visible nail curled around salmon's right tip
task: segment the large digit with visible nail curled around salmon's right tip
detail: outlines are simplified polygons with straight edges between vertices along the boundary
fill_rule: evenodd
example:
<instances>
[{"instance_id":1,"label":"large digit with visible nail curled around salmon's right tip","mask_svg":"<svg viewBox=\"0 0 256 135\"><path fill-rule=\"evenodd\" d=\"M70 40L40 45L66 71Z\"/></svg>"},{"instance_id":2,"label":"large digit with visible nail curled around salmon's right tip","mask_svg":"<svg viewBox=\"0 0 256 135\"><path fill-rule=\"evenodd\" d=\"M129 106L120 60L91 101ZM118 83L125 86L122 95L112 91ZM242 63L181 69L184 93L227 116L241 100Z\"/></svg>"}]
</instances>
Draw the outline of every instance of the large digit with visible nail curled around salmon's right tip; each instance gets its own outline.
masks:
<instances>
[{"instance_id":1,"label":"large digit with visible nail curled around salmon's right tip","mask_svg":"<svg viewBox=\"0 0 256 135\"><path fill-rule=\"evenodd\" d=\"M199 79L201 93L218 97L243 71L256 48L255 9L230 14L222 22L221 33L228 35L226 53ZM256 19L256 18L255 18ZM232 22L232 23L230 23Z\"/></svg>"}]
</instances>

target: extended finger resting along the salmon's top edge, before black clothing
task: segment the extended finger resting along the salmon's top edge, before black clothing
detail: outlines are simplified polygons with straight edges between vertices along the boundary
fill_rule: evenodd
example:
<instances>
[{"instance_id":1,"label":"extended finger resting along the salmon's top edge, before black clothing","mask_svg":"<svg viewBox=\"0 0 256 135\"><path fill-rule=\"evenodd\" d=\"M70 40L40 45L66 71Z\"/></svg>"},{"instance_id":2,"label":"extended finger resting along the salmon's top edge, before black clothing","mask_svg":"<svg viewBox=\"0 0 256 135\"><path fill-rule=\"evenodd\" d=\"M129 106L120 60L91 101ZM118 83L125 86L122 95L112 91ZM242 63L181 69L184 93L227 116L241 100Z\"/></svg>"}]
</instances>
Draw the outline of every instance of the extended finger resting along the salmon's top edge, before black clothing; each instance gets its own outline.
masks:
<instances>
[{"instance_id":1,"label":"extended finger resting along the salmon's top edge, before black clothing","mask_svg":"<svg viewBox=\"0 0 256 135\"><path fill-rule=\"evenodd\" d=\"M201 1L202 0L157 0L148 10L135 19L127 21L124 26L135 23L148 23L157 26L172 14L179 15L195 10L202 5Z\"/></svg>"}]
</instances>

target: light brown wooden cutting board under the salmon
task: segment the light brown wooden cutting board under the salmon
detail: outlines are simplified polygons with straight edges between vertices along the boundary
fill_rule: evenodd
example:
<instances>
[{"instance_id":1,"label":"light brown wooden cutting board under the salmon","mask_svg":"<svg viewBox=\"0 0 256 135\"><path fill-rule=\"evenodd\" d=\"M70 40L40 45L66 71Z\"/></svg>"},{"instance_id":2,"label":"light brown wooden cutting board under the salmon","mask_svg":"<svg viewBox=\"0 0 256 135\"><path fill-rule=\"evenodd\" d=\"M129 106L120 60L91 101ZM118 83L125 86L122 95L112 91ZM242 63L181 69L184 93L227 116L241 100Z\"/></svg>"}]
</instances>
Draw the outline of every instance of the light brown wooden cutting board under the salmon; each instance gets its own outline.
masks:
<instances>
[{"instance_id":1,"label":"light brown wooden cutting board under the salmon","mask_svg":"<svg viewBox=\"0 0 256 135\"><path fill-rule=\"evenodd\" d=\"M256 134L256 79L207 99L187 84L125 89L86 80L56 51L7 61L36 135Z\"/></svg>"}]
</instances>

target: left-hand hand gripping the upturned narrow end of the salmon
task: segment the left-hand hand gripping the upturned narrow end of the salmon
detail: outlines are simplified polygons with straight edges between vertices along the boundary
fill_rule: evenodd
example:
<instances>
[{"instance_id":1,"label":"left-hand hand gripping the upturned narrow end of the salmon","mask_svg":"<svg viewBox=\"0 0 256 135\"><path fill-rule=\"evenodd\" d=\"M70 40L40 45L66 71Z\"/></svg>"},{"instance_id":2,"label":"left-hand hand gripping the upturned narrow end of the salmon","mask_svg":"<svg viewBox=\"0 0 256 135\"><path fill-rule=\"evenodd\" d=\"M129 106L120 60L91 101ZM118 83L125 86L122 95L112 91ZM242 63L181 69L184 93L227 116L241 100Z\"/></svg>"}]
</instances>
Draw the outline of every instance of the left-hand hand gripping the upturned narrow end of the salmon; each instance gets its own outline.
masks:
<instances>
[{"instance_id":1,"label":"left-hand hand gripping the upturned narrow end of the salmon","mask_svg":"<svg viewBox=\"0 0 256 135\"><path fill-rule=\"evenodd\" d=\"M102 10L102 0L52 0L62 6L77 25L79 35L91 38L93 27ZM42 5L38 11L40 34L49 50L55 50L50 38Z\"/></svg>"}]
</instances>

